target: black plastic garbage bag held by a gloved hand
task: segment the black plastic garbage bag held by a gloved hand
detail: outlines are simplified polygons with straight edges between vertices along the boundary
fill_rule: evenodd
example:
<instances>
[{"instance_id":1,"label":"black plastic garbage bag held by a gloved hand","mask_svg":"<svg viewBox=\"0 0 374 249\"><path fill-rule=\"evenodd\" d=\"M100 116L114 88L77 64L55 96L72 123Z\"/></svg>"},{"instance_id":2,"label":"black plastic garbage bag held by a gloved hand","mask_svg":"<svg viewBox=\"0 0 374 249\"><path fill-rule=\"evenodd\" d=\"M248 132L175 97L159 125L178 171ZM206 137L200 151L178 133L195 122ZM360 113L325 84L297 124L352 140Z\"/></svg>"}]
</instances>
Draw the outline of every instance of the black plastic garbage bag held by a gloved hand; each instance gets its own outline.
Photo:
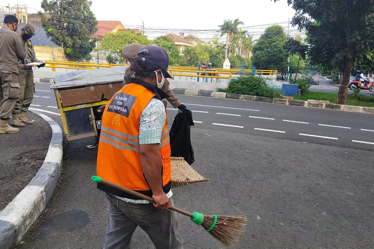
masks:
<instances>
[{"instance_id":1,"label":"black plastic garbage bag held by a gloved hand","mask_svg":"<svg viewBox=\"0 0 374 249\"><path fill-rule=\"evenodd\" d=\"M183 157L189 165L195 161L191 146L190 127L192 125L194 125L194 123L191 111L180 110L174 118L169 133L171 156Z\"/></svg>"}]
</instances>

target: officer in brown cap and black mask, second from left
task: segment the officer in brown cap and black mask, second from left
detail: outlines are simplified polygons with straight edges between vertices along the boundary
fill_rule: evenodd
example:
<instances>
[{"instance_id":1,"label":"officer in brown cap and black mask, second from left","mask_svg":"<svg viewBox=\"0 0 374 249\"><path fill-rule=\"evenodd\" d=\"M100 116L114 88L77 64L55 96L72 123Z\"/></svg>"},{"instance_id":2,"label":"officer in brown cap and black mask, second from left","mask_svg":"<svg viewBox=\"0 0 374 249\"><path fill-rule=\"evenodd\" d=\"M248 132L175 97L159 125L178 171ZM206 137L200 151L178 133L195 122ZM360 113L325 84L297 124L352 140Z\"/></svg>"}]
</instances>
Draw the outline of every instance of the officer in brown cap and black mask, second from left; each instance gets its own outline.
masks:
<instances>
[{"instance_id":1,"label":"officer in brown cap and black mask, second from left","mask_svg":"<svg viewBox=\"0 0 374 249\"><path fill-rule=\"evenodd\" d=\"M18 63L18 81L19 85L21 86L21 91L12 113L12 125L16 127L24 127L25 124L34 124L34 121L26 118L27 110L33 101L35 93L33 67L25 64L31 62L40 62L36 59L34 46L29 40L33 35L36 34L34 25L28 22L25 27L21 29L21 31L22 41L27 54L25 63L22 63L21 61ZM38 68L43 66L45 66L45 63L38 65Z\"/></svg>"}]
</instances>

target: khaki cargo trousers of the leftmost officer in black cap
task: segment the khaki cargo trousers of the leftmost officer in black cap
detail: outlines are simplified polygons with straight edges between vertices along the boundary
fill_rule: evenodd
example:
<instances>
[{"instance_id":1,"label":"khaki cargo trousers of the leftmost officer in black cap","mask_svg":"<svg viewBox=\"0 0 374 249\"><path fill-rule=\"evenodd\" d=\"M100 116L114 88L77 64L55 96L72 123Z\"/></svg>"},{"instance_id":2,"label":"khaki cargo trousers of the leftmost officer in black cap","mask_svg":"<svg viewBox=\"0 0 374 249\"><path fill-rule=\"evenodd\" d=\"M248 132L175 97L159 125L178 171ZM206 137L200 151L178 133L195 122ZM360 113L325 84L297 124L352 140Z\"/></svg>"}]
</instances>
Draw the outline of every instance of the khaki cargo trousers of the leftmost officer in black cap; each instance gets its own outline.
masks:
<instances>
[{"instance_id":1,"label":"khaki cargo trousers of the leftmost officer in black cap","mask_svg":"<svg viewBox=\"0 0 374 249\"><path fill-rule=\"evenodd\" d=\"M0 69L0 83L0 118L9 119L19 98L18 75Z\"/></svg>"}]
</instances>

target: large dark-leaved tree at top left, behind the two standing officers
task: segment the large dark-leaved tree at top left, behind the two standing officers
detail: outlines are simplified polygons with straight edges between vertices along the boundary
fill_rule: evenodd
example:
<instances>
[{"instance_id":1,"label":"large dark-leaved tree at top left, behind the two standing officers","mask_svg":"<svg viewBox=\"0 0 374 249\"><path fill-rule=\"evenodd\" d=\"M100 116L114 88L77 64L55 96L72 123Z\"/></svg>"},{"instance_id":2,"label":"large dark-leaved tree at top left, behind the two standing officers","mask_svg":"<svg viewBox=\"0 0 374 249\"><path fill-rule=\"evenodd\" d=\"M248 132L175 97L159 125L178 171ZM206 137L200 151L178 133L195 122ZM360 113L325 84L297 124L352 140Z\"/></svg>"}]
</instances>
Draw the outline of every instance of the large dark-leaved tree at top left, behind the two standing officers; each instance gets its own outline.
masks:
<instances>
[{"instance_id":1,"label":"large dark-leaved tree at top left, behind the two standing officers","mask_svg":"<svg viewBox=\"0 0 374 249\"><path fill-rule=\"evenodd\" d=\"M47 36L59 46L71 60L82 60L92 52L97 31L96 17L87 0L43 0L41 7L50 14L47 18L39 12Z\"/></svg>"}]
</instances>

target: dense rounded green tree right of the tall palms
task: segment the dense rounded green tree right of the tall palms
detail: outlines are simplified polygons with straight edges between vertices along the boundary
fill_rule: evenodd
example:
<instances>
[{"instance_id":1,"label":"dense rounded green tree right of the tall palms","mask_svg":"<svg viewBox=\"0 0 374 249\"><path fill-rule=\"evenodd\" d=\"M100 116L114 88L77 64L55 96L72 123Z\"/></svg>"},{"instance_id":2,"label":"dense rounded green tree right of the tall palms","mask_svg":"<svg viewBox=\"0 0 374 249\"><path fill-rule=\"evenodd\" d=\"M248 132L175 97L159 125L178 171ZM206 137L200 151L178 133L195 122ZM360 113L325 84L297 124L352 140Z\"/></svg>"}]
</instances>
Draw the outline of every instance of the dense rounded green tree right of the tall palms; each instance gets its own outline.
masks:
<instances>
[{"instance_id":1,"label":"dense rounded green tree right of the tall palms","mask_svg":"<svg viewBox=\"0 0 374 249\"><path fill-rule=\"evenodd\" d=\"M253 47L252 63L259 69L277 70L286 65L286 34L279 25L266 28Z\"/></svg>"}]
</instances>

